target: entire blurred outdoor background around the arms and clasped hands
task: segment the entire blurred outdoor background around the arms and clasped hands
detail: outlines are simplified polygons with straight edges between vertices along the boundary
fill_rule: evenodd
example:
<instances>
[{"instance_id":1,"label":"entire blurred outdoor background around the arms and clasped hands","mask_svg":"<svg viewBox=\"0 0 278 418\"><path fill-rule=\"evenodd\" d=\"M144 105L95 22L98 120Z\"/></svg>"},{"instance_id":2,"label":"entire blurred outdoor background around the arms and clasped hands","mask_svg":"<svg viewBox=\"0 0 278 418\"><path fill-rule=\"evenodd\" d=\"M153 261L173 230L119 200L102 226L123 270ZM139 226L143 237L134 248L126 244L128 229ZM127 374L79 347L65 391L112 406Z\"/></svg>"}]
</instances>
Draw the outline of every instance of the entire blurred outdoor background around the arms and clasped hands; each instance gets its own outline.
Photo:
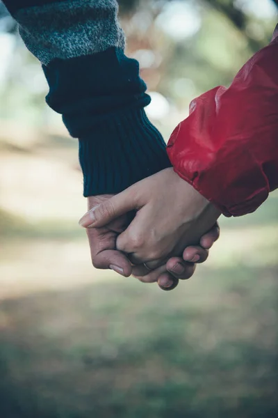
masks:
<instances>
[{"instance_id":1,"label":"entire blurred outdoor background around the arms and clasped hands","mask_svg":"<svg viewBox=\"0 0 278 418\"><path fill-rule=\"evenodd\" d=\"M270 40L277 3L120 1L165 139ZM172 293L94 270L76 141L0 15L0 417L278 417L278 194L221 219L209 261Z\"/></svg>"}]
</instances>

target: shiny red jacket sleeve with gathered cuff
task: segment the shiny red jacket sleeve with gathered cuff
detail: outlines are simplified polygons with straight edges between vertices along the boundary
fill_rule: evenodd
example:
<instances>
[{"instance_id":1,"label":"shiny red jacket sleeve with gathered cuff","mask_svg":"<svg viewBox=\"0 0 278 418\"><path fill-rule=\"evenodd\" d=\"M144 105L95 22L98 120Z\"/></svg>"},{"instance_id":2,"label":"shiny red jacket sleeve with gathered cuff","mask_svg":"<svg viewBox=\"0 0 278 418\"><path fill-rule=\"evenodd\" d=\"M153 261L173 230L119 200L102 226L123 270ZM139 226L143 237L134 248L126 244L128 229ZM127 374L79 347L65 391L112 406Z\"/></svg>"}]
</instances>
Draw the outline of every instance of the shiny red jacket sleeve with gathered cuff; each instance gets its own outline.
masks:
<instances>
[{"instance_id":1,"label":"shiny red jacket sleeve with gathered cuff","mask_svg":"<svg viewBox=\"0 0 278 418\"><path fill-rule=\"evenodd\" d=\"M167 147L174 170L226 216L254 212L278 187L278 36L229 88L190 104Z\"/></svg>"}]
</instances>

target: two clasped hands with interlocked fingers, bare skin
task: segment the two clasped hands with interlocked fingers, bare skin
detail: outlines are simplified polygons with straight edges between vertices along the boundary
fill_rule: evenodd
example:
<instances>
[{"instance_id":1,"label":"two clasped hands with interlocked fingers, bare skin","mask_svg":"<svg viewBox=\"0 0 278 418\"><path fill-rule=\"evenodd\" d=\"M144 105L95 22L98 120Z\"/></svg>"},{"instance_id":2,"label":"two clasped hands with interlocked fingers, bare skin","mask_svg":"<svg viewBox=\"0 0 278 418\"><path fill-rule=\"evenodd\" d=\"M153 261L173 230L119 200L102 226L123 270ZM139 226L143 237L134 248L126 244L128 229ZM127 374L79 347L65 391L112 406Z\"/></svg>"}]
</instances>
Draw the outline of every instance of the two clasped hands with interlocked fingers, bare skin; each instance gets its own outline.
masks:
<instances>
[{"instance_id":1,"label":"two clasped hands with interlocked fingers, bare skin","mask_svg":"<svg viewBox=\"0 0 278 418\"><path fill-rule=\"evenodd\" d=\"M120 194L88 198L81 218L92 264L172 290L195 272L219 237L220 210L172 168Z\"/></svg>"}]
</instances>

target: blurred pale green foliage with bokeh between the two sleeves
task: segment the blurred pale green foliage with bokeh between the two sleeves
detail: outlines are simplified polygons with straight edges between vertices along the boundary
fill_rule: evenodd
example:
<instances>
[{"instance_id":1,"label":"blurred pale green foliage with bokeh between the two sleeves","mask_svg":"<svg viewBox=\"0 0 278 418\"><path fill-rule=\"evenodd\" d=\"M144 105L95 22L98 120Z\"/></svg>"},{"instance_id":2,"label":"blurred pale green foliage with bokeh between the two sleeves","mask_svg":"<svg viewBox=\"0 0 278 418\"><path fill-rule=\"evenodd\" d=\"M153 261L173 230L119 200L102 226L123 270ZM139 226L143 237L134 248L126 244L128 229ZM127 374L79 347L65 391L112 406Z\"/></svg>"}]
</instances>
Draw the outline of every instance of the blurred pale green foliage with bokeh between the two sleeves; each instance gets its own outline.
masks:
<instances>
[{"instance_id":1,"label":"blurred pale green foliage with bokeh between the two sleeves","mask_svg":"<svg viewBox=\"0 0 278 418\"><path fill-rule=\"evenodd\" d=\"M138 0L120 5L123 15L129 11L128 47L141 61L149 88L180 108L194 95L229 84L240 66L270 40L275 26L275 18L260 19L236 1ZM171 34L175 26L180 33ZM192 26L191 32L183 30L186 26Z\"/></svg>"}]
</instances>

